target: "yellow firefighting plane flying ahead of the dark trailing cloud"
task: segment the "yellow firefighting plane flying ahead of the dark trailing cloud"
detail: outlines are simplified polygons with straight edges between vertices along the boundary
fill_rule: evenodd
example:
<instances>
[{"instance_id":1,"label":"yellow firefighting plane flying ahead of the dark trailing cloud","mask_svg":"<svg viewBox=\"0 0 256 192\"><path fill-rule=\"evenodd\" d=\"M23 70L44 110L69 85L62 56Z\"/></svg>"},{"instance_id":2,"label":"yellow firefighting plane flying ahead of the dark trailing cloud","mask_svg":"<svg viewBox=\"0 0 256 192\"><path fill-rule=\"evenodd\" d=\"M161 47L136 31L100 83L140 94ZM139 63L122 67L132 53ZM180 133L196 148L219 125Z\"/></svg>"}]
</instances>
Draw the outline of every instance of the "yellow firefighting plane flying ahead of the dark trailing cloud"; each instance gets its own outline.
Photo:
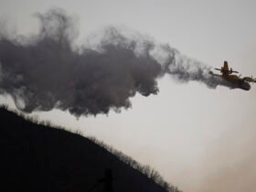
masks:
<instances>
[{"instance_id":1,"label":"yellow firefighting plane flying ahead of the dark trailing cloud","mask_svg":"<svg viewBox=\"0 0 256 192\"><path fill-rule=\"evenodd\" d=\"M233 70L232 68L229 69L228 61L224 61L223 67L221 67L221 69L216 68L216 70L219 70L221 75L215 74L212 71L209 71L209 74L220 77L223 80L226 80L227 82L229 82L231 89L239 88L241 90L249 91L251 90L250 82L252 83L256 82L256 78L253 79L252 76L240 78L241 75L240 76L231 75L232 73L239 73L239 72Z\"/></svg>"}]
</instances>

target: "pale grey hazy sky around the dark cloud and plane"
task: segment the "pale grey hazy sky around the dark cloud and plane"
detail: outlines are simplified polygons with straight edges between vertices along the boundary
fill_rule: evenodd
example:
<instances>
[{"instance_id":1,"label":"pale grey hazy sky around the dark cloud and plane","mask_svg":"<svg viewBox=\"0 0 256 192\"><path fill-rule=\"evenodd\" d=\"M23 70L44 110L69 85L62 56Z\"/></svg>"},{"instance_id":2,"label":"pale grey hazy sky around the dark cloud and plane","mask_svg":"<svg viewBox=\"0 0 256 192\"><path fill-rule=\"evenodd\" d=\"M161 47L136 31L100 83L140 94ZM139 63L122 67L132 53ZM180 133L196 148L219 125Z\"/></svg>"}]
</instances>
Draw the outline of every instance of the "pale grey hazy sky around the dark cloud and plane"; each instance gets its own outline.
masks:
<instances>
[{"instance_id":1,"label":"pale grey hazy sky around the dark cloud and plane","mask_svg":"<svg viewBox=\"0 0 256 192\"><path fill-rule=\"evenodd\" d=\"M127 27L208 66L228 60L242 75L256 76L255 1L0 0L0 15L27 35L38 30L33 14L52 7L78 17L80 44L102 27ZM136 94L133 108L121 113L79 120L68 112L37 114L96 136L184 191L255 191L256 85L251 91L212 90L168 76L158 84L158 95Z\"/></svg>"}]
</instances>

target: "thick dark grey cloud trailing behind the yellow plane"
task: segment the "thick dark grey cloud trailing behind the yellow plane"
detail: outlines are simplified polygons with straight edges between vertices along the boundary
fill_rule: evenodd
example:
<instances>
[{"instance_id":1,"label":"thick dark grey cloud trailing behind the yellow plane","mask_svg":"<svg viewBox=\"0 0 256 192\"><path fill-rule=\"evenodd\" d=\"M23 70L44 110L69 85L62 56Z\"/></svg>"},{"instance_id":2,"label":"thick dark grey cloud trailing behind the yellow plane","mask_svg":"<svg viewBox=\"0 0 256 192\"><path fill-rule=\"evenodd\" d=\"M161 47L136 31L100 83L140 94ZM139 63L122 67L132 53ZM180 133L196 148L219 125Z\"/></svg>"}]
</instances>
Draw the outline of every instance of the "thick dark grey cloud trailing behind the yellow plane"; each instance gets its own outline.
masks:
<instances>
[{"instance_id":1,"label":"thick dark grey cloud trailing behind the yellow plane","mask_svg":"<svg viewBox=\"0 0 256 192\"><path fill-rule=\"evenodd\" d=\"M168 45L110 27L93 48L76 47L75 21L62 10L38 14L40 31L32 37L0 37L0 93L10 94L24 112L68 110L80 116L131 107L136 92L158 92L165 73L197 80L209 88L222 84L209 68Z\"/></svg>"}]
</instances>

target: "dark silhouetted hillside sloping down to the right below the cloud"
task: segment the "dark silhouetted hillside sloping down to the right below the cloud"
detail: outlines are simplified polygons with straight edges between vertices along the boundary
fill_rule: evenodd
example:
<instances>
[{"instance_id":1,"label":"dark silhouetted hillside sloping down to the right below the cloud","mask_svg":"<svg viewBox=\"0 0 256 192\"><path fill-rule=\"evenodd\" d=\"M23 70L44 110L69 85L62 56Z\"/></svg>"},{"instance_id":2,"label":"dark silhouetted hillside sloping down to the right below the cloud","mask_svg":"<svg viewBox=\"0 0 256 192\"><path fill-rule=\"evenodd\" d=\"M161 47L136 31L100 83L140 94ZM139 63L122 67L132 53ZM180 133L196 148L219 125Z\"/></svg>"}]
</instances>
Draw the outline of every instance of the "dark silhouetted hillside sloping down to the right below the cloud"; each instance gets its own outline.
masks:
<instances>
[{"instance_id":1,"label":"dark silhouetted hillside sloping down to the right below the cloud","mask_svg":"<svg viewBox=\"0 0 256 192\"><path fill-rule=\"evenodd\" d=\"M4 108L0 123L0 191L179 191L156 184L78 134L31 123Z\"/></svg>"}]
</instances>

